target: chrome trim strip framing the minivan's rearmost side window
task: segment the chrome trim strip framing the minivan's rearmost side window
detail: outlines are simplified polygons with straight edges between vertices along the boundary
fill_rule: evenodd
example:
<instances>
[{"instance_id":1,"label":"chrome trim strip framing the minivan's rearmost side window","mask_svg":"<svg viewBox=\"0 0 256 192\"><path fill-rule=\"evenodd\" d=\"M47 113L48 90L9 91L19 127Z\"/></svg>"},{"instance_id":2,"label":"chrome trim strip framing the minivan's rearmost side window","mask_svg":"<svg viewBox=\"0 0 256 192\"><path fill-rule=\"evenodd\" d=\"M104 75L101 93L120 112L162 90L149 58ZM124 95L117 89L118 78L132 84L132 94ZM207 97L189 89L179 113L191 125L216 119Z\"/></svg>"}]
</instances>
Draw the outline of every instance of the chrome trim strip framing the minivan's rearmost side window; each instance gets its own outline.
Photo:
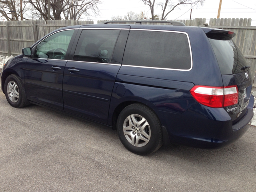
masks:
<instances>
[{"instance_id":1,"label":"chrome trim strip framing the minivan's rearmost side window","mask_svg":"<svg viewBox=\"0 0 256 192\"><path fill-rule=\"evenodd\" d=\"M134 31L156 31L156 32L171 32L171 33L181 33L181 34L186 34L188 38L188 45L190 49L190 59L191 59L191 67L190 69L171 69L171 68L160 68L160 67L146 67L146 66L135 66L135 65L123 65L122 66L127 66L127 67L140 67L140 68L149 68L149 69L162 69L162 70L174 70L174 71L190 71L193 68L193 58L192 58L192 50L191 50L191 44L190 44L190 39L188 36L187 32L181 32L181 31L169 31L169 30L153 30L153 29L131 29Z\"/></svg>"}]
</instances>

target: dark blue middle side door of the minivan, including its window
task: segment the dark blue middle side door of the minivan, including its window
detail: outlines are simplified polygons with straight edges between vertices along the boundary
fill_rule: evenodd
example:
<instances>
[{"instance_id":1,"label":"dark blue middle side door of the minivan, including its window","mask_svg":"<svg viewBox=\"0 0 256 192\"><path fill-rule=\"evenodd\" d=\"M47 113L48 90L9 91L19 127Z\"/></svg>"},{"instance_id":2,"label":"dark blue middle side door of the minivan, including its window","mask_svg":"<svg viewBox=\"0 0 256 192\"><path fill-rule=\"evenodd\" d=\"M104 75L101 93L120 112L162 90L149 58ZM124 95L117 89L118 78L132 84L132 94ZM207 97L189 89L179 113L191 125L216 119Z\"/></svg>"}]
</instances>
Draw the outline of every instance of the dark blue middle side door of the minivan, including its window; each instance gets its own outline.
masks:
<instances>
[{"instance_id":1,"label":"dark blue middle side door of the minivan, including its window","mask_svg":"<svg viewBox=\"0 0 256 192\"><path fill-rule=\"evenodd\" d=\"M107 124L128 33L128 28L82 30L64 70L64 111Z\"/></svg>"}]
</instances>

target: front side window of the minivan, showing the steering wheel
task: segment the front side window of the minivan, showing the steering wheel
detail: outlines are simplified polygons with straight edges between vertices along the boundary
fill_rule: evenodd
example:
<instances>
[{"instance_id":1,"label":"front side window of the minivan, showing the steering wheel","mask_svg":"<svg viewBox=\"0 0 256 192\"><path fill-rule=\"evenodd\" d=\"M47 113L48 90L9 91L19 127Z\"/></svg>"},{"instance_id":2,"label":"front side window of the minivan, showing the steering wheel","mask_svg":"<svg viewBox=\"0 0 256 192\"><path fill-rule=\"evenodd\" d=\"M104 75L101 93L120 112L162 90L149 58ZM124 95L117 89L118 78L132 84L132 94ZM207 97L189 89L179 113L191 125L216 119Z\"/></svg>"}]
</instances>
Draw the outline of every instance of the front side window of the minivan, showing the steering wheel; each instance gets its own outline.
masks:
<instances>
[{"instance_id":1,"label":"front side window of the minivan, showing the steering wheel","mask_svg":"<svg viewBox=\"0 0 256 192\"><path fill-rule=\"evenodd\" d=\"M57 32L36 47L35 58L64 59L74 30Z\"/></svg>"}]
</instances>

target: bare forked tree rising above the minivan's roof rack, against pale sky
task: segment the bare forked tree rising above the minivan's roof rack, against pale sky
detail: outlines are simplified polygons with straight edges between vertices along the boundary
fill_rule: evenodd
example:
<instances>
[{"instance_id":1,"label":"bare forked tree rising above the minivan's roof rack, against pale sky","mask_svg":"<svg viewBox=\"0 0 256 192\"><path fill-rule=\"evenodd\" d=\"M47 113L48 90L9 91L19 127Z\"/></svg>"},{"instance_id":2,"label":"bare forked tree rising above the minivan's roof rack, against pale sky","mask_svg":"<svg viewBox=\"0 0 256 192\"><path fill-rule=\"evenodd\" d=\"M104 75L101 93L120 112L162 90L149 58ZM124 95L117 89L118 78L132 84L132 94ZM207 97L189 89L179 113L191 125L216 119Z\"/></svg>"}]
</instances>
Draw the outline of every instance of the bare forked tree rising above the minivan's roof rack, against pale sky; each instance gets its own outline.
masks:
<instances>
[{"instance_id":1,"label":"bare forked tree rising above the minivan's roof rack, against pale sky","mask_svg":"<svg viewBox=\"0 0 256 192\"><path fill-rule=\"evenodd\" d=\"M154 6L156 3L155 0L142 0L142 2L144 2L145 5L150 6L151 18L154 20ZM179 6L196 4L202 5L204 2L205 0L160 0L156 6L160 6L162 8L161 20L165 20L168 14Z\"/></svg>"}]
</instances>

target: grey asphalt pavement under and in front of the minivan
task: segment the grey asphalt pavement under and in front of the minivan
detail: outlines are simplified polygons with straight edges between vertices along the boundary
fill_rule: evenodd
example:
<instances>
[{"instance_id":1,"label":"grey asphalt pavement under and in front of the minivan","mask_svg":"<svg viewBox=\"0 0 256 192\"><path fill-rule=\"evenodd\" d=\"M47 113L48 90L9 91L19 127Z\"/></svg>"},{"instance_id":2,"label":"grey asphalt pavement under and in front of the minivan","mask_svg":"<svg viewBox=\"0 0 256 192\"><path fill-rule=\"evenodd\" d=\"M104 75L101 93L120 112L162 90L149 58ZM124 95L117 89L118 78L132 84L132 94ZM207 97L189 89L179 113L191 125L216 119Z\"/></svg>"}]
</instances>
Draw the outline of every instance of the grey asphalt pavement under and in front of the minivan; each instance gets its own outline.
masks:
<instances>
[{"instance_id":1,"label":"grey asphalt pavement under and in front of the minivan","mask_svg":"<svg viewBox=\"0 0 256 192\"><path fill-rule=\"evenodd\" d=\"M138 156L116 131L0 92L0 191L256 191L256 128L219 150Z\"/></svg>"}]
</instances>

